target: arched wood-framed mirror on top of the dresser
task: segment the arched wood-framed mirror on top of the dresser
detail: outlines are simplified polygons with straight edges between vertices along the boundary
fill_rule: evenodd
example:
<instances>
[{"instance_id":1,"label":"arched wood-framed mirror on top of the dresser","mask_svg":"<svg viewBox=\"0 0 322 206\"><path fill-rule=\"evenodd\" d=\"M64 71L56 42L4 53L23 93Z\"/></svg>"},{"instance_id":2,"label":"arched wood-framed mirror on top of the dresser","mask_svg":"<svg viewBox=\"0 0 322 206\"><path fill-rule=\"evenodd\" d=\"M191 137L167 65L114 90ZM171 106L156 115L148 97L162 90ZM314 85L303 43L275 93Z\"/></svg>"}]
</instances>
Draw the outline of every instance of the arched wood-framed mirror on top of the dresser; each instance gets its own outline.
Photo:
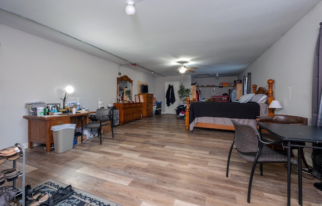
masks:
<instances>
[{"instance_id":1,"label":"arched wood-framed mirror on top of the dresser","mask_svg":"<svg viewBox=\"0 0 322 206\"><path fill-rule=\"evenodd\" d=\"M117 102L132 101L132 82L128 76L117 78Z\"/></svg>"}]
</instances>

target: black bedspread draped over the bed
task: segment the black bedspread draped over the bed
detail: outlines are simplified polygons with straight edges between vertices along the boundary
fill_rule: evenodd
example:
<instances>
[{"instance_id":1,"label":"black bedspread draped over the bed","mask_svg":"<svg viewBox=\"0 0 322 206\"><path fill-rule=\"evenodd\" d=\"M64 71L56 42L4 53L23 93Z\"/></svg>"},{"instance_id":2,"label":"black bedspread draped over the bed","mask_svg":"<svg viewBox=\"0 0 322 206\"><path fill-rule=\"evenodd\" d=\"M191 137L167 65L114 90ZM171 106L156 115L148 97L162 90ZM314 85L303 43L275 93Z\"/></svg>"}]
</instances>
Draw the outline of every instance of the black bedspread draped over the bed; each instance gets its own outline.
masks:
<instances>
[{"instance_id":1,"label":"black bedspread draped over the bed","mask_svg":"<svg viewBox=\"0 0 322 206\"><path fill-rule=\"evenodd\" d=\"M260 105L256 102L191 102L189 124L196 117L256 119L256 116L260 116Z\"/></svg>"}]
</instances>

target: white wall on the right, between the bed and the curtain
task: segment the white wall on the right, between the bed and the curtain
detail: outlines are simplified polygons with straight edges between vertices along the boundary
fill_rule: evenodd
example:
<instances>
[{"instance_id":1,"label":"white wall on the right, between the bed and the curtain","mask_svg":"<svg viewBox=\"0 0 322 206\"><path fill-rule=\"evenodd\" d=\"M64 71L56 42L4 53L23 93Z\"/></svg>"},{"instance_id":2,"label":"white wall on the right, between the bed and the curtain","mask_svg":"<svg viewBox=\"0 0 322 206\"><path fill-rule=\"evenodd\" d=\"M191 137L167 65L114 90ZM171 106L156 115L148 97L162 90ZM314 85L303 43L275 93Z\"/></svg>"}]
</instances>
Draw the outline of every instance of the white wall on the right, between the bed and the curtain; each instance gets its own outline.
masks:
<instances>
[{"instance_id":1,"label":"white wall on the right, between the bed and the curtain","mask_svg":"<svg viewBox=\"0 0 322 206\"><path fill-rule=\"evenodd\" d=\"M247 68L239 79L252 73L252 84L267 88L273 79L274 97L283 109L279 114L303 116L311 122L312 70L322 2L294 25Z\"/></svg>"}]
</instances>

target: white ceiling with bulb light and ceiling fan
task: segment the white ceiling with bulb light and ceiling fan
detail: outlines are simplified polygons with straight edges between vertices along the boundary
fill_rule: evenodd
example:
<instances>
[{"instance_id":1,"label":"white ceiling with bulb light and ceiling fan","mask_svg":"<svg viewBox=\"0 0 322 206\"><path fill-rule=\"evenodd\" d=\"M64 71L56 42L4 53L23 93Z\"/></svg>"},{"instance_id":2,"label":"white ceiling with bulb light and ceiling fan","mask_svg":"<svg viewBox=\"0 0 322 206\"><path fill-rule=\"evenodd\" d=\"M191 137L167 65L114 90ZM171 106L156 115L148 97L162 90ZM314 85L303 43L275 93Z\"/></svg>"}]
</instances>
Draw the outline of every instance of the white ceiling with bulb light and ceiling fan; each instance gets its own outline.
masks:
<instances>
[{"instance_id":1,"label":"white ceiling with bulb light and ceiling fan","mask_svg":"<svg viewBox=\"0 0 322 206\"><path fill-rule=\"evenodd\" d=\"M0 23L155 77L182 60L198 67L185 75L236 76L321 0L134 2L127 16L126 0L0 0Z\"/></svg>"}]
</instances>

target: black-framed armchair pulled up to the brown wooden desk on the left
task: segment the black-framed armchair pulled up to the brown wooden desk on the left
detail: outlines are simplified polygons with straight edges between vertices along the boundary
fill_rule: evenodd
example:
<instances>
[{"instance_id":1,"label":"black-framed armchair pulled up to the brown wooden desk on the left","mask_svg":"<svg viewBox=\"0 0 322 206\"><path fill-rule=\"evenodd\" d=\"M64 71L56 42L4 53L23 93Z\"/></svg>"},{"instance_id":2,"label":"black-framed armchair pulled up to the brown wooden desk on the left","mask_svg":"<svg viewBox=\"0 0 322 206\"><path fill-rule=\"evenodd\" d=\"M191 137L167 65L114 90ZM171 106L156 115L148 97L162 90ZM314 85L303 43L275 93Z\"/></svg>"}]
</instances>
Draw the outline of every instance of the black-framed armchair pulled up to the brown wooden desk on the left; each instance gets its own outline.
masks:
<instances>
[{"instance_id":1,"label":"black-framed armchair pulled up to the brown wooden desk on the left","mask_svg":"<svg viewBox=\"0 0 322 206\"><path fill-rule=\"evenodd\" d=\"M87 124L83 123L84 117L82 118L82 141L83 141L83 128L87 129L97 129L98 134L100 134L100 145L102 145L102 126L104 125L111 125L111 131L112 131L112 138L114 138L114 132L113 132L113 119L110 115L111 108L108 109L97 109L95 114L90 114L90 116L93 116L92 122L89 122Z\"/></svg>"}]
</instances>

